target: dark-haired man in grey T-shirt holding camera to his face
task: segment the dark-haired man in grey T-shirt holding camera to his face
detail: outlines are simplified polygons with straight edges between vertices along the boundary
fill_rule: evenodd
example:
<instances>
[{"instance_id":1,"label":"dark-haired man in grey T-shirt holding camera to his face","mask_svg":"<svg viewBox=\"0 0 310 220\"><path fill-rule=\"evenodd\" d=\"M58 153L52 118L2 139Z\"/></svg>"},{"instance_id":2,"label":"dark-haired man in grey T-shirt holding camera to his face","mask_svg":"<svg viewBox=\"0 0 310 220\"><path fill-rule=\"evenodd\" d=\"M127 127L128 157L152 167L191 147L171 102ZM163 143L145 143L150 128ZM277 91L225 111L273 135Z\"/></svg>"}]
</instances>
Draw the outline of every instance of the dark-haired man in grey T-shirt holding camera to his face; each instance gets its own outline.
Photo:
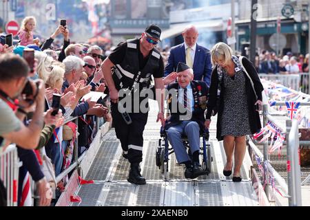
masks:
<instances>
[{"instance_id":1,"label":"dark-haired man in grey T-shirt holding camera to his face","mask_svg":"<svg viewBox=\"0 0 310 220\"><path fill-rule=\"evenodd\" d=\"M42 80L36 83L28 80L29 70L28 64L19 56L0 56L0 136L3 144L14 142L23 148L34 149L43 128L45 86ZM32 122L26 127L21 120L34 104Z\"/></svg>"}]
</instances>

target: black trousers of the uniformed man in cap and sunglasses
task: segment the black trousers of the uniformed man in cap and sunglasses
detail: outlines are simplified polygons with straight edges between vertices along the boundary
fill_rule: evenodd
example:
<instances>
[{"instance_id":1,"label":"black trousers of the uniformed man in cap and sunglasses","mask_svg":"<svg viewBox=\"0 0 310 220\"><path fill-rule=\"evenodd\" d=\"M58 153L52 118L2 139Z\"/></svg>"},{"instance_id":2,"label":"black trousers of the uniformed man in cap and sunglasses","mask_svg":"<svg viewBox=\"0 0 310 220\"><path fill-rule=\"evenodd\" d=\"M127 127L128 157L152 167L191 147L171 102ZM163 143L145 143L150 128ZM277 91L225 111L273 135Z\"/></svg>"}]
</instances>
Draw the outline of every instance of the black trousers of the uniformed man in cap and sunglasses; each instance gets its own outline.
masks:
<instances>
[{"instance_id":1,"label":"black trousers of the uniformed man in cap and sunglasses","mask_svg":"<svg viewBox=\"0 0 310 220\"><path fill-rule=\"evenodd\" d=\"M132 123L127 124L118 111L117 105L111 103L112 123L116 137L121 141L123 151L128 151L127 158L130 163L142 162L143 131L148 113L129 113Z\"/></svg>"}]
</instances>

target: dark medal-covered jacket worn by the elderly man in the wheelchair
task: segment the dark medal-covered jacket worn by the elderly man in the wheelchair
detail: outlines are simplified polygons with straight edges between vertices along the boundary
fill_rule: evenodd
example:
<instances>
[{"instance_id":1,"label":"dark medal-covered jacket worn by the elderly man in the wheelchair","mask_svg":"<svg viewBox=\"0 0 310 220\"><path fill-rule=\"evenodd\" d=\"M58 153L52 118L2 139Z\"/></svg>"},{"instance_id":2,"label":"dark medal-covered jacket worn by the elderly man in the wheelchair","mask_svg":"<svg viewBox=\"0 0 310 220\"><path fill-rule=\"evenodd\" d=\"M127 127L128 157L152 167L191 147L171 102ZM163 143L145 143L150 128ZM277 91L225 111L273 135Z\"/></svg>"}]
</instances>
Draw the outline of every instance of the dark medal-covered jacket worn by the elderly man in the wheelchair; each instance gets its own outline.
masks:
<instances>
[{"instance_id":1,"label":"dark medal-covered jacket worn by the elderly man in the wheelchair","mask_svg":"<svg viewBox=\"0 0 310 220\"><path fill-rule=\"evenodd\" d=\"M195 121L200 126L200 131L205 131L205 109L207 107L208 87L204 81L191 81L194 110L192 111L191 121ZM171 113L165 123L165 129L180 123L180 116L185 115L183 109L178 106L178 83L171 83L168 89L168 107Z\"/></svg>"}]
</instances>

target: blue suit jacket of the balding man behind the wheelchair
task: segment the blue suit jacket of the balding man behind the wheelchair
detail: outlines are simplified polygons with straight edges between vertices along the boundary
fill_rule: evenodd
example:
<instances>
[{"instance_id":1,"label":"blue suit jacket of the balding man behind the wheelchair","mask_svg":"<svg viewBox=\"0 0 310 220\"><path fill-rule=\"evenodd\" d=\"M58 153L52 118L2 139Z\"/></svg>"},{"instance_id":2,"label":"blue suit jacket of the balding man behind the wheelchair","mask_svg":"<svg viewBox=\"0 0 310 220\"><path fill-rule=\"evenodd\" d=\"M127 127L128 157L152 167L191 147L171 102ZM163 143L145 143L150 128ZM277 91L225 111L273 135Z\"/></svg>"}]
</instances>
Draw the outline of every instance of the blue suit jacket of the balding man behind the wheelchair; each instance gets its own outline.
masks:
<instances>
[{"instance_id":1,"label":"blue suit jacket of the balding man behind the wheelchair","mask_svg":"<svg viewBox=\"0 0 310 220\"><path fill-rule=\"evenodd\" d=\"M165 76L176 71L178 62L186 63L185 44L181 43L171 48L170 55L165 67ZM194 80L204 80L207 86L210 86L211 81L211 53L207 48L196 45L194 57Z\"/></svg>"}]
</instances>

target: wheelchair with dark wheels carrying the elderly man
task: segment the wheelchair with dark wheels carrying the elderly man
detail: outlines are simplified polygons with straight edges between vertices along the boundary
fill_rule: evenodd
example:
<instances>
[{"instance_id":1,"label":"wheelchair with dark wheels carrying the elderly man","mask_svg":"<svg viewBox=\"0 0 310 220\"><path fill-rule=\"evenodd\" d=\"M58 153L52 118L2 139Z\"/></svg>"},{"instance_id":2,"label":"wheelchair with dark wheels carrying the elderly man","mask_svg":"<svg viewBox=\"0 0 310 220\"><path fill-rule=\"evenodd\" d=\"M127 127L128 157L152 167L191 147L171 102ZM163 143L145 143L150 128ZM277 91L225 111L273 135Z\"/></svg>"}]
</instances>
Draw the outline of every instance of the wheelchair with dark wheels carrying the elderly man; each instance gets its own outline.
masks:
<instances>
[{"instance_id":1,"label":"wheelchair with dark wheels carrying the elderly man","mask_svg":"<svg viewBox=\"0 0 310 220\"><path fill-rule=\"evenodd\" d=\"M202 168L204 171L206 171L207 175L209 175L209 173L211 173L211 162L213 161L213 158L211 157L210 144L207 144L207 140L209 140L209 130L206 129L203 132L200 131L200 140L201 138L203 139L203 146L200 146L199 154L202 155ZM184 147L188 148L189 150L189 142L187 141L187 136L182 135L182 140ZM169 155L171 155L172 153L174 153L174 149L172 148L172 146L169 148L167 133L162 126L161 138L158 140L158 147L156 149L156 166L158 166L158 168L161 170L165 181L169 180L168 164ZM190 154L189 157L191 157Z\"/></svg>"}]
</instances>

